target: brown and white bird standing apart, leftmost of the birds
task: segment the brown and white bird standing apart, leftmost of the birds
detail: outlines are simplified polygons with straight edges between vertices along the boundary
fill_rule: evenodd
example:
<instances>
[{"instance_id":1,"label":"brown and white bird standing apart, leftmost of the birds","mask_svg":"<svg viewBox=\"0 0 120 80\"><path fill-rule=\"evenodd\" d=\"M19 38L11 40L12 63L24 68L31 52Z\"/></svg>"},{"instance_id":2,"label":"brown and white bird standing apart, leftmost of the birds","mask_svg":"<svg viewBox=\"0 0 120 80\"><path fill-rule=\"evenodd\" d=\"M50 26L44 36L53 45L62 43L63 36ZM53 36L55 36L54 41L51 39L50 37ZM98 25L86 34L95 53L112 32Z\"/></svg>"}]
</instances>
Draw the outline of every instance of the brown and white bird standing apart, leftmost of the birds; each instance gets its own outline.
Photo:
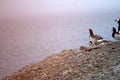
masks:
<instances>
[{"instance_id":1,"label":"brown and white bird standing apart, leftmost of the birds","mask_svg":"<svg viewBox=\"0 0 120 80\"><path fill-rule=\"evenodd\" d=\"M94 34L92 29L89 29L89 45L98 45L103 41L103 38L100 35Z\"/></svg>"}]
</instances>

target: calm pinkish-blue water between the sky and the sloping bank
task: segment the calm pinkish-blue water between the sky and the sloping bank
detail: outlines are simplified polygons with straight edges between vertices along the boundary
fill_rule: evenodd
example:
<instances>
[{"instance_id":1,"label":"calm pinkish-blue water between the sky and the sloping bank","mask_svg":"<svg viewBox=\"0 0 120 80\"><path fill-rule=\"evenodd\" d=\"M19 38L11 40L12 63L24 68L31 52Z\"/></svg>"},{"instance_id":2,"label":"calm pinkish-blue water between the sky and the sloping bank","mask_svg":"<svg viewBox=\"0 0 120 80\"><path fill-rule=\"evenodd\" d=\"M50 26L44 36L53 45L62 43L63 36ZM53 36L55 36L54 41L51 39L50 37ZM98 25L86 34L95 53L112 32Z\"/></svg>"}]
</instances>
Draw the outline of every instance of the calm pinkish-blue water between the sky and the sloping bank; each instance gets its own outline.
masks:
<instances>
[{"instance_id":1,"label":"calm pinkish-blue water between the sky and the sloping bank","mask_svg":"<svg viewBox=\"0 0 120 80\"><path fill-rule=\"evenodd\" d=\"M0 20L0 78L63 49L88 45L88 28L107 40L120 12Z\"/></svg>"}]
</instances>

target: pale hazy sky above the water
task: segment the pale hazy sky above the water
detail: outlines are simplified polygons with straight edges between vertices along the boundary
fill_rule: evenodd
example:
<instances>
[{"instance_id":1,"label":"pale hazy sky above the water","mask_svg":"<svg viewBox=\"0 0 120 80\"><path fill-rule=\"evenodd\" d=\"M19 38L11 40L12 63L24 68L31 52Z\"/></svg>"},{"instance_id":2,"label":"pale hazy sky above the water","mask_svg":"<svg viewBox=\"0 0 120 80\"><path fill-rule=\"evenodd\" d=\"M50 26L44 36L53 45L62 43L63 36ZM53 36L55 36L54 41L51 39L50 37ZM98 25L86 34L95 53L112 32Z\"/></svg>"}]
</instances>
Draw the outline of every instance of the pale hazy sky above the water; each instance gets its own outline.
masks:
<instances>
[{"instance_id":1,"label":"pale hazy sky above the water","mask_svg":"<svg viewBox=\"0 0 120 80\"><path fill-rule=\"evenodd\" d=\"M120 0L0 0L0 16L93 12L120 8Z\"/></svg>"}]
</instances>

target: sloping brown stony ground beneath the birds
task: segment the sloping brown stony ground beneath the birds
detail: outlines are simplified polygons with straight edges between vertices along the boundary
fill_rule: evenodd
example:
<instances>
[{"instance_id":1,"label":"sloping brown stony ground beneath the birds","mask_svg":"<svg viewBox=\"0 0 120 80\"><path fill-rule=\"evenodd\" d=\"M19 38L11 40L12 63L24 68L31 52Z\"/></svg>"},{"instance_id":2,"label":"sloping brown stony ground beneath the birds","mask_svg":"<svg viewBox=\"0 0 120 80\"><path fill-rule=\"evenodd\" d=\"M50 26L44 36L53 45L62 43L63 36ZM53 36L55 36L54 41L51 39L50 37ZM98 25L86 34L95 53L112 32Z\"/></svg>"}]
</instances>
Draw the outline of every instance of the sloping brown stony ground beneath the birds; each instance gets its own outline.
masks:
<instances>
[{"instance_id":1,"label":"sloping brown stony ground beneath the birds","mask_svg":"<svg viewBox=\"0 0 120 80\"><path fill-rule=\"evenodd\" d=\"M63 50L3 80L120 80L120 42Z\"/></svg>"}]
</instances>

